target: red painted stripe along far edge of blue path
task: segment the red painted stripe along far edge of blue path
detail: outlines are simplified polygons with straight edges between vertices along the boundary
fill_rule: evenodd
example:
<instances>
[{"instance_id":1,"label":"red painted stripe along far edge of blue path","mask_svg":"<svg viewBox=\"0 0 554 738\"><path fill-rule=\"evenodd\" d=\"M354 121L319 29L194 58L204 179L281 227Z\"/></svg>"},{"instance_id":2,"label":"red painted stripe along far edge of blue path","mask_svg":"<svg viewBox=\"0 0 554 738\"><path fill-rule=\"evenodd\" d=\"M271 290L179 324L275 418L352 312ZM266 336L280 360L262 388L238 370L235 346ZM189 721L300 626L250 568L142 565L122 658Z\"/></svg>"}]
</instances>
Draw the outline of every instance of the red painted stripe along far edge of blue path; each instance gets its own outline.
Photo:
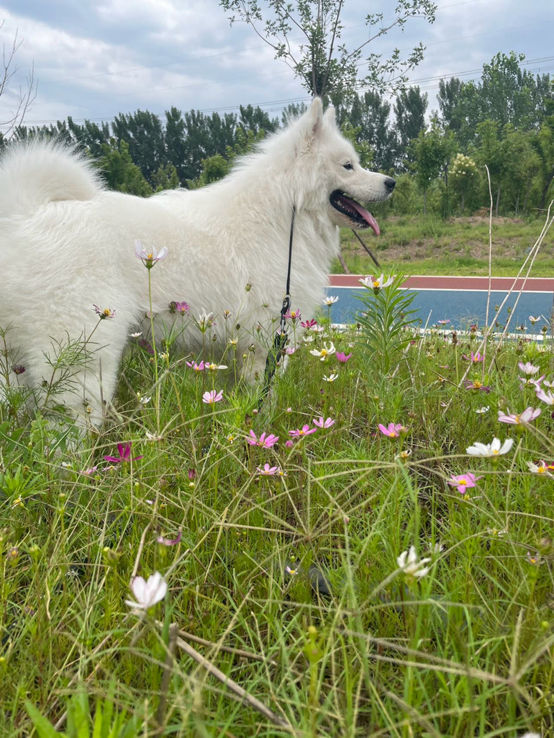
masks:
<instances>
[{"instance_id":1,"label":"red painted stripe along far edge of blue path","mask_svg":"<svg viewBox=\"0 0 554 738\"><path fill-rule=\"evenodd\" d=\"M359 287L360 279L364 275L329 275L329 286L331 287ZM490 280L490 287L493 290L507 292L513 287L519 292L523 286L524 280L520 277L513 286L513 277L493 277ZM471 289L488 289L488 277L446 277L434 276L426 277L424 275L416 275L408 277L404 282L405 287L417 289L437 289L437 290L471 290ZM550 277L529 277L525 282L524 292L554 292L554 279Z\"/></svg>"}]
</instances>

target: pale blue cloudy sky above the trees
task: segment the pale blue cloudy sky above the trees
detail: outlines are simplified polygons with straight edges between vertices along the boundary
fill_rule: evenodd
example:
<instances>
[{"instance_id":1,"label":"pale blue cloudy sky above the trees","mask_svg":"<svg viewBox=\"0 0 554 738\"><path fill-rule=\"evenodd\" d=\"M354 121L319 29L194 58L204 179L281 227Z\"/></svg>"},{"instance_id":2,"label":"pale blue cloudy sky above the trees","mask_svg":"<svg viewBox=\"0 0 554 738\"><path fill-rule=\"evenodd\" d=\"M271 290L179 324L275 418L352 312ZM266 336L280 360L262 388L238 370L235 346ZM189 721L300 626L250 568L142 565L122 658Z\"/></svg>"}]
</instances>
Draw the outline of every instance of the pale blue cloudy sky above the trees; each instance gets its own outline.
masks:
<instances>
[{"instance_id":1,"label":"pale blue cloudy sky above the trees","mask_svg":"<svg viewBox=\"0 0 554 738\"><path fill-rule=\"evenodd\" d=\"M367 38L366 13L383 10L387 20L394 4L346 0L346 45ZM423 41L425 60L410 77L428 92L431 108L440 77L479 77L499 51L524 53L533 72L554 72L553 0L437 4L433 25L414 18L403 33L371 44L386 55L394 46L408 52ZM68 115L110 120L137 108L234 111L241 103L280 116L289 101L305 99L293 72L253 30L230 27L227 15L219 0L0 0L0 42L11 46L16 32L23 41L19 70L0 97L0 123L10 117L17 86L32 65L38 94L27 123L37 125Z\"/></svg>"}]
</instances>

